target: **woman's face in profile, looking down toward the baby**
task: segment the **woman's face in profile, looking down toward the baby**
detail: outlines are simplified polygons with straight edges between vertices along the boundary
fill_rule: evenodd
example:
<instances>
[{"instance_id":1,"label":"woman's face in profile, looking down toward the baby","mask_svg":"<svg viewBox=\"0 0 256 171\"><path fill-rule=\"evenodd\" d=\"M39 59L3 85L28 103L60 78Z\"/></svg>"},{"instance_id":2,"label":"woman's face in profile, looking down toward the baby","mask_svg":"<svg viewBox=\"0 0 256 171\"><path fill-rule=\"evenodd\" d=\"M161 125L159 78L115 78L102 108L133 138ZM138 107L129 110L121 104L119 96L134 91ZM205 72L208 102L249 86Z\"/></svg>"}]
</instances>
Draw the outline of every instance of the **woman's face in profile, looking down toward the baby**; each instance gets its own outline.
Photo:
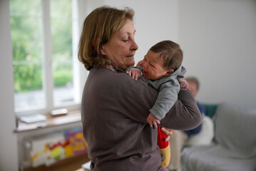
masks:
<instances>
[{"instance_id":1,"label":"woman's face in profile, looking down toward the baby","mask_svg":"<svg viewBox=\"0 0 256 171\"><path fill-rule=\"evenodd\" d=\"M120 68L126 70L135 63L134 55L138 45L134 41L134 36L133 22L127 19L123 27L111 36L108 43L101 47L101 53Z\"/></svg>"}]
</instances>

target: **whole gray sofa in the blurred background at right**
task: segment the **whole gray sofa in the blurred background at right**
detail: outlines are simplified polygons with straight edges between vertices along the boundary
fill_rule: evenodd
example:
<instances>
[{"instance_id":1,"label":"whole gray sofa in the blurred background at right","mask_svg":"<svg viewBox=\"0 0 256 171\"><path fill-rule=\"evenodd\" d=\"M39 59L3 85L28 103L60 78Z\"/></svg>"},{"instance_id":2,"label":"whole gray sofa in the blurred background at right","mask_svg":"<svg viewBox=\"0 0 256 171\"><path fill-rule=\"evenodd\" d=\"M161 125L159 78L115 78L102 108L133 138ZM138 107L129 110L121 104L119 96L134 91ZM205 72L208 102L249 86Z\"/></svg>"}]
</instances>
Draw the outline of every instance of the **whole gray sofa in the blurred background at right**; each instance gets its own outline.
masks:
<instances>
[{"instance_id":1,"label":"whole gray sofa in the blurred background at right","mask_svg":"<svg viewBox=\"0 0 256 171\"><path fill-rule=\"evenodd\" d=\"M183 171L255 171L256 111L230 103L212 107L213 142L185 147Z\"/></svg>"}]
</instances>

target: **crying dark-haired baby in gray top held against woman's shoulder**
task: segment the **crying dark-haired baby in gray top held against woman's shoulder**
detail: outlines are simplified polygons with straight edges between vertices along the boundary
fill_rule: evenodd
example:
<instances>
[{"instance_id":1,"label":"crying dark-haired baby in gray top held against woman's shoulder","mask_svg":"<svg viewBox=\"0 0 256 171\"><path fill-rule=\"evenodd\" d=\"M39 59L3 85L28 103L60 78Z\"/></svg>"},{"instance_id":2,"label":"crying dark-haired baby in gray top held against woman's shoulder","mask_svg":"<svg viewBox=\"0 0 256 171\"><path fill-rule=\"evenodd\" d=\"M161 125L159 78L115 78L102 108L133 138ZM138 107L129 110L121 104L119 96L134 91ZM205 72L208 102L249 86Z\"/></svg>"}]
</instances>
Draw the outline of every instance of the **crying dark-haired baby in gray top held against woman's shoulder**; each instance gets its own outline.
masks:
<instances>
[{"instance_id":1,"label":"crying dark-haired baby in gray top held against woman's shoulder","mask_svg":"<svg viewBox=\"0 0 256 171\"><path fill-rule=\"evenodd\" d=\"M149 111L147 118L150 127L157 128L160 120L165 117L170 108L173 107L178 99L180 84L178 77L185 76L185 68L181 66L183 61L183 51L180 46L173 41L160 41L150 48L137 66L130 66L126 72L137 80L142 78L150 86L159 91L158 98L155 100L153 108ZM165 135L158 128L158 145L160 147L162 162L166 167L170 162L170 145L165 141Z\"/></svg>"}]
</instances>

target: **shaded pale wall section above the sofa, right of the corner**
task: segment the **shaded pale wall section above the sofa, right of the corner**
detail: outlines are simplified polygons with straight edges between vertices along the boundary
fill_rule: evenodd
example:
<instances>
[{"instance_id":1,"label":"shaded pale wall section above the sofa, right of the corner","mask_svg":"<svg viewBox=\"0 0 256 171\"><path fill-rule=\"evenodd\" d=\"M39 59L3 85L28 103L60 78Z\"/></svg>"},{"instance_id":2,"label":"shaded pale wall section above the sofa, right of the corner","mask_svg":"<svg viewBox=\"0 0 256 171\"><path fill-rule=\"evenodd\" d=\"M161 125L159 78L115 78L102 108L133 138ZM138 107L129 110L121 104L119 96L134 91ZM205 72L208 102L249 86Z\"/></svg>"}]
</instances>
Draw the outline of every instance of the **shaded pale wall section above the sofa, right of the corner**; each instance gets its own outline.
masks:
<instances>
[{"instance_id":1,"label":"shaded pale wall section above the sofa, right of the corner","mask_svg":"<svg viewBox=\"0 0 256 171\"><path fill-rule=\"evenodd\" d=\"M256 109L256 1L179 1L178 39L198 100Z\"/></svg>"}]
</instances>

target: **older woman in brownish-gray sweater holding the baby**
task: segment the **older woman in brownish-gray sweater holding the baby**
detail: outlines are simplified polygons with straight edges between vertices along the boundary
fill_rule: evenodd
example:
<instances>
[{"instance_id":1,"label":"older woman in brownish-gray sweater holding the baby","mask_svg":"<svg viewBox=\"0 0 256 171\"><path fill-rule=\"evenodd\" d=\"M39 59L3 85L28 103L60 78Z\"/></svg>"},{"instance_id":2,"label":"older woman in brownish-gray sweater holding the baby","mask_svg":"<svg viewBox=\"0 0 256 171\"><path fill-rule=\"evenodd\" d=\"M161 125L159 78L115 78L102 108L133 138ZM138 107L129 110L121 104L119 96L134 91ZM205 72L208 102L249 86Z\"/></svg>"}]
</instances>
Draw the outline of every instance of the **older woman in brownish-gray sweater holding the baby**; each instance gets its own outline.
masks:
<instances>
[{"instance_id":1,"label":"older woman in brownish-gray sweater holding the baby","mask_svg":"<svg viewBox=\"0 0 256 171\"><path fill-rule=\"evenodd\" d=\"M158 92L124 73L134 65L138 49L133 14L132 9L103 6L92 11L83 24L78 58L90 73L81 115L91 170L164 170L158 130L146 120ZM186 81L179 82L178 100L160 126L190 130L200 124L201 116Z\"/></svg>"}]
</instances>

